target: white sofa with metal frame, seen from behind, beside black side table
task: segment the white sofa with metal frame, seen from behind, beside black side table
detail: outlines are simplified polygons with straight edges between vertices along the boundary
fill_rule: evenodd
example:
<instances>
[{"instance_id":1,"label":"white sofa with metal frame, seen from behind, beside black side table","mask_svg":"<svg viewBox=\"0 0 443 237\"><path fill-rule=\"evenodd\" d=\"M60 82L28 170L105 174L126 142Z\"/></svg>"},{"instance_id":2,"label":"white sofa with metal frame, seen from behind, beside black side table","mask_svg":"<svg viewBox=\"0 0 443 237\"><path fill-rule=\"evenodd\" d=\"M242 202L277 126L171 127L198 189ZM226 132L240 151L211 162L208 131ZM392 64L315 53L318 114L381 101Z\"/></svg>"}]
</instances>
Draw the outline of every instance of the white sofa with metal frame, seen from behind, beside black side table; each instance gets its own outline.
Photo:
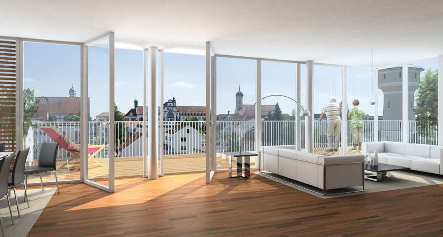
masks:
<instances>
[{"instance_id":1,"label":"white sofa with metal frame, seen from behind, beside black side table","mask_svg":"<svg viewBox=\"0 0 443 237\"><path fill-rule=\"evenodd\" d=\"M262 147L260 169L323 190L363 186L364 156L327 157L295 150L295 146Z\"/></svg>"}]
</instances>

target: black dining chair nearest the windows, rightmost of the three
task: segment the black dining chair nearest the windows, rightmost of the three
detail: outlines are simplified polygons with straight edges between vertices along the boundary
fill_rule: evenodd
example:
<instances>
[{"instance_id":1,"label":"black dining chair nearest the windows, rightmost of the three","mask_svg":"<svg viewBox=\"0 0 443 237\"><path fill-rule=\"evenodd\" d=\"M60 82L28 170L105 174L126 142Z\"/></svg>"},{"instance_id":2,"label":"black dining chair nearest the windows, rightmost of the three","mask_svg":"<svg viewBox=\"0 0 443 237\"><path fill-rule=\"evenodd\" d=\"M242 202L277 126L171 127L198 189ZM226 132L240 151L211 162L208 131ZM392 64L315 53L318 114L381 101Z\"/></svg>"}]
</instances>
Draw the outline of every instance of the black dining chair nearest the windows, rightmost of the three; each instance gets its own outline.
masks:
<instances>
[{"instance_id":1,"label":"black dining chair nearest the windows, rightmost of the three","mask_svg":"<svg viewBox=\"0 0 443 237\"><path fill-rule=\"evenodd\" d=\"M55 174L55 184L57 186L57 192L60 194L60 189L58 188L57 172L55 171L55 158L57 158L58 143L54 142L44 142L40 147L39 155L39 165L36 166L26 166L26 184L28 183L28 175L40 174L40 183L43 189L43 179L42 173L53 172Z\"/></svg>"}]
</instances>

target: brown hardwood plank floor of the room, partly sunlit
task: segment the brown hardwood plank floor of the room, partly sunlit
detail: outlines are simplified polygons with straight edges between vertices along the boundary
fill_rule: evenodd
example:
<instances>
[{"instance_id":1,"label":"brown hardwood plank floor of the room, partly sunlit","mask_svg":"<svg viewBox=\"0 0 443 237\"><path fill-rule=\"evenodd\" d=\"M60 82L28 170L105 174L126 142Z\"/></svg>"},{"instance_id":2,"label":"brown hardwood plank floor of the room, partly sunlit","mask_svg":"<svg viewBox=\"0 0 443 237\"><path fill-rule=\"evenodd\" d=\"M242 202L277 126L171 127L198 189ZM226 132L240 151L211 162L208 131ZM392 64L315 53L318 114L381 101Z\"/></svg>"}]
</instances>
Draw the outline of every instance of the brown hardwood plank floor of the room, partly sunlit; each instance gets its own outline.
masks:
<instances>
[{"instance_id":1,"label":"brown hardwood plank floor of the room, partly sunlit","mask_svg":"<svg viewBox=\"0 0 443 237\"><path fill-rule=\"evenodd\" d=\"M29 237L443 236L443 186L319 198L252 175L62 185Z\"/></svg>"}]
</instances>

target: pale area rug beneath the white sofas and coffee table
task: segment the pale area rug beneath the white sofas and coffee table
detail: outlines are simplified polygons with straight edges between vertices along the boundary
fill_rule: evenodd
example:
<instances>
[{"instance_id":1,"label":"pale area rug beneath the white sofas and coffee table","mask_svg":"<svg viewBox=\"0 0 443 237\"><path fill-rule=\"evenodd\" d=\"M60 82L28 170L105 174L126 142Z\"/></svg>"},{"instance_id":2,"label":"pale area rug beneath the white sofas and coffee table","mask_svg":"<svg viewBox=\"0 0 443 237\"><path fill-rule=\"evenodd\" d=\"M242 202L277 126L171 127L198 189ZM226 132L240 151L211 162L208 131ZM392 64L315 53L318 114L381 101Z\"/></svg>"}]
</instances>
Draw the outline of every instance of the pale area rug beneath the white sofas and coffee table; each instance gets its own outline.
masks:
<instances>
[{"instance_id":1,"label":"pale area rug beneath the white sofas and coffee table","mask_svg":"<svg viewBox=\"0 0 443 237\"><path fill-rule=\"evenodd\" d=\"M266 178L269 178L269 179L279 182L281 184L285 184L287 186L293 187L295 189L306 192L308 194L314 195L316 197L321 197L321 198L343 197L343 196L350 196L350 195L368 194L368 193L383 192L383 191L390 191L390 190L397 190L397 189L406 189L406 188L414 188L414 187L421 187L421 186L428 186L428 185L443 184L443 175L430 174L430 173L424 173L424 172L413 171L413 170L392 171L392 172L388 172L388 177L383 177L383 180L381 182L365 180L364 192L338 194L338 193L343 193L343 192L352 192L352 191L361 190L361 186L360 186L360 187L355 187L355 188L328 190L328 194L330 194L330 196L322 196L322 195L319 195L315 192L322 193L323 191L321 189L315 188L313 186L306 185L306 184L303 184L300 182L296 182L292 179L288 179L283 176L272 174L272 173L268 173L268 175L264 175L262 173L256 172L256 174L266 177ZM309 190L312 190L315 192L311 192ZM334 195L334 194L338 194L338 195Z\"/></svg>"}]
</instances>

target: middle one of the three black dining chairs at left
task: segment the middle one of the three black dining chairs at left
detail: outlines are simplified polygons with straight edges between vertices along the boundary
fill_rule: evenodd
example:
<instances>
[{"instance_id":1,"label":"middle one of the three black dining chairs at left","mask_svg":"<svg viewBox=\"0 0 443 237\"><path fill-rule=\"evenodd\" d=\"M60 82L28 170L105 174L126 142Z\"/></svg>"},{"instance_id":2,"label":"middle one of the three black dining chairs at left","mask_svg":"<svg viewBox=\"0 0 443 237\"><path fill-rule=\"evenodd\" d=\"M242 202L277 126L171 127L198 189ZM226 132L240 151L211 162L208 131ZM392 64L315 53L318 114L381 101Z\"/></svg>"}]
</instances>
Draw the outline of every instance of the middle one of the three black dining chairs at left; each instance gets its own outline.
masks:
<instances>
[{"instance_id":1,"label":"middle one of the three black dining chairs at left","mask_svg":"<svg viewBox=\"0 0 443 237\"><path fill-rule=\"evenodd\" d=\"M17 205L18 217L20 217L20 208L18 208L18 198L17 198L17 193L15 192L15 188L18 185L23 184L25 190L24 199L28 201L28 207L29 207L28 193L26 191L26 184L25 184L25 165L26 165L26 158L28 158L28 154L29 154L29 148L18 151L17 156L15 156L14 167L12 168L12 174L8 178L9 189L14 190L15 204Z\"/></svg>"}]
</instances>

